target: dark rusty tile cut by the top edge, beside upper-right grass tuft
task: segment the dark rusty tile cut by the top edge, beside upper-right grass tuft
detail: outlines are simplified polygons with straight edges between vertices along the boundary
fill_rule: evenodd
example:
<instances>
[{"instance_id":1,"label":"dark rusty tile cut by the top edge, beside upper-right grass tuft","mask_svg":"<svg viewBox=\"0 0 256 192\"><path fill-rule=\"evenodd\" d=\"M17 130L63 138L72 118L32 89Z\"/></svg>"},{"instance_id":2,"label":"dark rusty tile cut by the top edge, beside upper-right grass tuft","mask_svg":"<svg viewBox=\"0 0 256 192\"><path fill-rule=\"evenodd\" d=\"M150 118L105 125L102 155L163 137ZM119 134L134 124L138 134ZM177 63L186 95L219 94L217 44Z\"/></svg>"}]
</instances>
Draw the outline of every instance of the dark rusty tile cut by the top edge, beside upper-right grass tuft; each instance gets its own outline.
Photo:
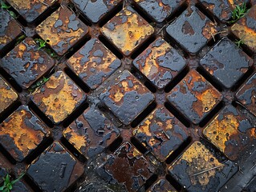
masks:
<instances>
[{"instance_id":1,"label":"dark rusty tile cut by the top edge, beside upper-right grass tuft","mask_svg":"<svg viewBox=\"0 0 256 192\"><path fill-rule=\"evenodd\" d=\"M205 6L206 10L209 10L212 14L214 14L217 18L221 20L221 22L226 22L232 16L232 11L234 11L236 6L241 6L242 0L221 0L221 1L210 1L210 0L200 0L200 2Z\"/></svg>"}]
</instances>

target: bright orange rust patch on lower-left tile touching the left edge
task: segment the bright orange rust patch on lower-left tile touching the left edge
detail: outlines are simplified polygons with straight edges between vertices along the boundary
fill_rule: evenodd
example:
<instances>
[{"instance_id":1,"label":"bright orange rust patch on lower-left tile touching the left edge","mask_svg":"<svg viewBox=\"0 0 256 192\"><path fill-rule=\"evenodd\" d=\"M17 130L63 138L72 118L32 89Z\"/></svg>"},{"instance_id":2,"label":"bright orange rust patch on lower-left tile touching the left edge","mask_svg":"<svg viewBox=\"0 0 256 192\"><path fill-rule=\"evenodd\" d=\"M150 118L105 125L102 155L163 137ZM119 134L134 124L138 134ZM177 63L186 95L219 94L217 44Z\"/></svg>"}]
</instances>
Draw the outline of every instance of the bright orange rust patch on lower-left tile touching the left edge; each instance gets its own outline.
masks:
<instances>
[{"instance_id":1,"label":"bright orange rust patch on lower-left tile touching the left edge","mask_svg":"<svg viewBox=\"0 0 256 192\"><path fill-rule=\"evenodd\" d=\"M14 145L18 147L18 150L22 151L24 157L30 150L34 150L45 136L41 130L33 130L26 127L23 121L26 115L30 115L26 110L16 111L11 114L10 121L2 122L2 126L0 126L0 132L8 134L14 140Z\"/></svg>"}]
</instances>

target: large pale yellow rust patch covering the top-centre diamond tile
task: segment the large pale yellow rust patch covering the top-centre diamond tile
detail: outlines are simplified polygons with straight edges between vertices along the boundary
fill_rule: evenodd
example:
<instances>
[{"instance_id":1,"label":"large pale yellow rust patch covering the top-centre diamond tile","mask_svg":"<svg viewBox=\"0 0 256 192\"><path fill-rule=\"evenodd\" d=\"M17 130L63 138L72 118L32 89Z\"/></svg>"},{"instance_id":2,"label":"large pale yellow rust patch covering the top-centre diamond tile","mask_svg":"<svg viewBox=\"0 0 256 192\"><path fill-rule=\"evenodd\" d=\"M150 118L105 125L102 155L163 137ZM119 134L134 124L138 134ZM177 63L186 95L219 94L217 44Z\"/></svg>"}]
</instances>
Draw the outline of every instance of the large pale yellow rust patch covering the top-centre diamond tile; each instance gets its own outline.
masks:
<instances>
[{"instance_id":1,"label":"large pale yellow rust patch covering the top-centre diamond tile","mask_svg":"<svg viewBox=\"0 0 256 192\"><path fill-rule=\"evenodd\" d=\"M105 36L111 38L112 42L124 54L130 54L136 46L140 45L142 39L153 34L154 29L149 24L140 26L139 15L133 14L129 10L124 9L124 14L116 14L116 17L122 16L127 17L127 22L116 25L114 30L110 30L104 26L101 31Z\"/></svg>"}]
</instances>

